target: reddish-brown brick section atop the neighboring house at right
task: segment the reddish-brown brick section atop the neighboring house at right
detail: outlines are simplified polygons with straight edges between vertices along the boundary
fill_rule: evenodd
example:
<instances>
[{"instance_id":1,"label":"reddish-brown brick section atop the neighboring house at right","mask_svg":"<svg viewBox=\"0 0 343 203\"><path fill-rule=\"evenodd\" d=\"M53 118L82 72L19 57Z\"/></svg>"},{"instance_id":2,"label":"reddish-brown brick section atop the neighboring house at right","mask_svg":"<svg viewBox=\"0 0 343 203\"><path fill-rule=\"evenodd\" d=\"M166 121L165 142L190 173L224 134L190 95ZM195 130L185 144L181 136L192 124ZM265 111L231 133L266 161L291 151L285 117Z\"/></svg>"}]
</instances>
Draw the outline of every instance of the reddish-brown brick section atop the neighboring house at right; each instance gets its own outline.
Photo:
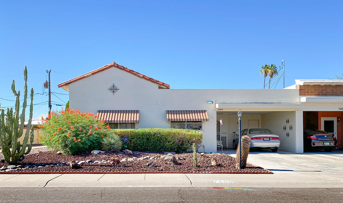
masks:
<instances>
[{"instance_id":1,"label":"reddish-brown brick section atop the neighboring house at right","mask_svg":"<svg viewBox=\"0 0 343 203\"><path fill-rule=\"evenodd\" d=\"M299 85L300 96L343 96L343 85Z\"/></svg>"}]
</instances>

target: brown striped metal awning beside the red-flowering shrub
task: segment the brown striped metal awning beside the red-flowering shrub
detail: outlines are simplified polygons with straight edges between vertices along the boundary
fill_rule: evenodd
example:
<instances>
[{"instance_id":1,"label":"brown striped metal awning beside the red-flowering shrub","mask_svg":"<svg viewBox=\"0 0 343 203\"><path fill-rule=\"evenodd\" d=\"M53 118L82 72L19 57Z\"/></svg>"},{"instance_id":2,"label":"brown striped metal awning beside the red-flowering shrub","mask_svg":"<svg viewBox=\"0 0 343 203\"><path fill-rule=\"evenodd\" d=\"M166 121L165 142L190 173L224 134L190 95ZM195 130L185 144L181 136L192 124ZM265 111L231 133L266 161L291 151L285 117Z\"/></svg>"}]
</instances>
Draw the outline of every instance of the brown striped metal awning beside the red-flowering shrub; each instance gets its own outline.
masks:
<instances>
[{"instance_id":1,"label":"brown striped metal awning beside the red-flowering shrub","mask_svg":"<svg viewBox=\"0 0 343 203\"><path fill-rule=\"evenodd\" d=\"M139 111L98 110L96 115L105 123L139 123Z\"/></svg>"}]
</instances>

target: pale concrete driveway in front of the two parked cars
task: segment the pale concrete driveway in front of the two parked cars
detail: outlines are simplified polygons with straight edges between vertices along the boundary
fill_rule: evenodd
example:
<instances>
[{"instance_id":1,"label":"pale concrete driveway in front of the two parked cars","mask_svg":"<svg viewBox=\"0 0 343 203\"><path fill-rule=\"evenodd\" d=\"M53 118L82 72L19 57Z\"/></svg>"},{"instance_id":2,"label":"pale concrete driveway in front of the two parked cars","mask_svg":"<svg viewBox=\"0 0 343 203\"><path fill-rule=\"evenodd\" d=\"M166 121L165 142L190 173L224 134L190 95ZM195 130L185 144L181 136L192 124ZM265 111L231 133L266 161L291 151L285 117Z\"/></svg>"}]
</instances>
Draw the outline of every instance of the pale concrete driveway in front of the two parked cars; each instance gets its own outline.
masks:
<instances>
[{"instance_id":1,"label":"pale concrete driveway in front of the two parked cars","mask_svg":"<svg viewBox=\"0 0 343 203\"><path fill-rule=\"evenodd\" d=\"M233 149L225 154L236 157ZM343 151L316 151L297 154L293 152L253 150L249 163L271 170L275 174L343 174Z\"/></svg>"}]
</instances>

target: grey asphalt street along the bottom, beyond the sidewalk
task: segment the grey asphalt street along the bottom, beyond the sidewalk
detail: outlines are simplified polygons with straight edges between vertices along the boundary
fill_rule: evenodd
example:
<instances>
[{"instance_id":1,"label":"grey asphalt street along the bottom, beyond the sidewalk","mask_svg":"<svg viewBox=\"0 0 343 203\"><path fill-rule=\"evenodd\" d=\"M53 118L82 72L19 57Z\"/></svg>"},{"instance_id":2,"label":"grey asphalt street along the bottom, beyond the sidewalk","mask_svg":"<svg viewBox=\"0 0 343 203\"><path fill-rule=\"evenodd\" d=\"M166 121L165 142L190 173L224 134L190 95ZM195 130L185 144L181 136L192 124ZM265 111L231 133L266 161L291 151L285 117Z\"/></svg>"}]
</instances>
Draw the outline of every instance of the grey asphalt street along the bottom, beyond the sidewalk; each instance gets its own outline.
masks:
<instances>
[{"instance_id":1,"label":"grey asphalt street along the bottom, beyond the sidewalk","mask_svg":"<svg viewBox=\"0 0 343 203\"><path fill-rule=\"evenodd\" d=\"M343 188L225 187L22 187L1 188L1 202L330 202L341 203Z\"/></svg>"}]
</instances>

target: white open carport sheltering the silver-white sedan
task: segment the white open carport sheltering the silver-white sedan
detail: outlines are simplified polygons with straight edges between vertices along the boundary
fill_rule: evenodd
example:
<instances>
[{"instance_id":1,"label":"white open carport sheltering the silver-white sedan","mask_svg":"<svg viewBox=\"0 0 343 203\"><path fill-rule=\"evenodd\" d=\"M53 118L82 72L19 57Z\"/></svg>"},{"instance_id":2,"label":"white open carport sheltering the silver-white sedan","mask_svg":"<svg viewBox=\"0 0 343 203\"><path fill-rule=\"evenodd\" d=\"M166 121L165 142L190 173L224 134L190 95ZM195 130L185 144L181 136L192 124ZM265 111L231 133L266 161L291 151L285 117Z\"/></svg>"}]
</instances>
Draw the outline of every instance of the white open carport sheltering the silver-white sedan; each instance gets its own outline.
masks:
<instances>
[{"instance_id":1,"label":"white open carport sheltering the silver-white sedan","mask_svg":"<svg viewBox=\"0 0 343 203\"><path fill-rule=\"evenodd\" d=\"M216 103L217 140L223 141L223 147L233 148L235 133L238 134L237 112L241 110L242 129L268 128L280 137L279 150L303 153L303 111L301 104L277 103Z\"/></svg>"}]
</instances>

